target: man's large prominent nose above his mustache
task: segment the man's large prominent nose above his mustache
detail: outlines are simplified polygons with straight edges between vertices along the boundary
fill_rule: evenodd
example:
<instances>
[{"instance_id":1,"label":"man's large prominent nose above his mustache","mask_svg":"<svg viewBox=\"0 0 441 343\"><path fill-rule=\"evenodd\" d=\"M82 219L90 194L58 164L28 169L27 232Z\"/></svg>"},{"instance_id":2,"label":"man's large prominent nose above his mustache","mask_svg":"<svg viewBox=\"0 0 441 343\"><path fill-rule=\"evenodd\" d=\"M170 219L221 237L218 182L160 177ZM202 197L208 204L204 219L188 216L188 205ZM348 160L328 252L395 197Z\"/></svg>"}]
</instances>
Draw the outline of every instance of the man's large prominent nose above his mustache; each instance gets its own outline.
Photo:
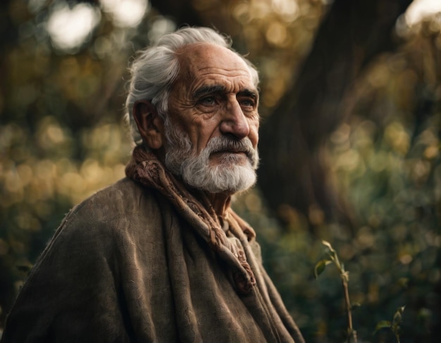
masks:
<instances>
[{"instance_id":1,"label":"man's large prominent nose above his mustache","mask_svg":"<svg viewBox=\"0 0 441 343\"><path fill-rule=\"evenodd\" d=\"M237 99L228 101L220 130L223 135L234 135L237 139L249 135L249 123Z\"/></svg>"}]
</instances>

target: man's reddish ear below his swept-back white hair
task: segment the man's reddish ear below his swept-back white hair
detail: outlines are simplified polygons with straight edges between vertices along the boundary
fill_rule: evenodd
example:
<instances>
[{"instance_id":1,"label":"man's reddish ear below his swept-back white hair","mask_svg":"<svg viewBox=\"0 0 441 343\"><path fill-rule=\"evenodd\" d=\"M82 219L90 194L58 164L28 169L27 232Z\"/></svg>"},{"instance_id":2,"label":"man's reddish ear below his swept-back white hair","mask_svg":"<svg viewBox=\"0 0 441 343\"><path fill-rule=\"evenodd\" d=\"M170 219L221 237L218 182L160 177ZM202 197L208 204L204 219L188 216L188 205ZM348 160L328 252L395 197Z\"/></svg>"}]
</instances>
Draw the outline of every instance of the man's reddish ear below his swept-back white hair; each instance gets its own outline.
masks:
<instances>
[{"instance_id":1,"label":"man's reddish ear below his swept-back white hair","mask_svg":"<svg viewBox=\"0 0 441 343\"><path fill-rule=\"evenodd\" d=\"M159 149L163 144L163 120L150 101L141 100L133 105L133 118L139 134L150 149Z\"/></svg>"}]
</instances>

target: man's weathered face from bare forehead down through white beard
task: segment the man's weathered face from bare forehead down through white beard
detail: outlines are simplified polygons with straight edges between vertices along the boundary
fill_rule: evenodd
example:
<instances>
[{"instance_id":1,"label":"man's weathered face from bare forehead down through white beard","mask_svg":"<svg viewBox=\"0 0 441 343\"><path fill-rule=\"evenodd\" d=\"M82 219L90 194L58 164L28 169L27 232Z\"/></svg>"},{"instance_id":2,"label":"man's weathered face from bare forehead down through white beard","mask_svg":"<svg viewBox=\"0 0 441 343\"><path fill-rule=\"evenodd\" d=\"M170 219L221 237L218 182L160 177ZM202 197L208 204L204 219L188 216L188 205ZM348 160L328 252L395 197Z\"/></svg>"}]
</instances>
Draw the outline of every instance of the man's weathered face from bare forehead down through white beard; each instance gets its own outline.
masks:
<instances>
[{"instance_id":1,"label":"man's weathered face from bare forehead down through white beard","mask_svg":"<svg viewBox=\"0 0 441 343\"><path fill-rule=\"evenodd\" d=\"M259 159L259 94L247 64L220 46L192 44L180 51L180 66L168 102L166 164L190 185L209 192L250 187ZM190 168L187 173L182 163ZM203 176L194 173L231 180L207 187L213 182L200 185Z\"/></svg>"}]
</instances>

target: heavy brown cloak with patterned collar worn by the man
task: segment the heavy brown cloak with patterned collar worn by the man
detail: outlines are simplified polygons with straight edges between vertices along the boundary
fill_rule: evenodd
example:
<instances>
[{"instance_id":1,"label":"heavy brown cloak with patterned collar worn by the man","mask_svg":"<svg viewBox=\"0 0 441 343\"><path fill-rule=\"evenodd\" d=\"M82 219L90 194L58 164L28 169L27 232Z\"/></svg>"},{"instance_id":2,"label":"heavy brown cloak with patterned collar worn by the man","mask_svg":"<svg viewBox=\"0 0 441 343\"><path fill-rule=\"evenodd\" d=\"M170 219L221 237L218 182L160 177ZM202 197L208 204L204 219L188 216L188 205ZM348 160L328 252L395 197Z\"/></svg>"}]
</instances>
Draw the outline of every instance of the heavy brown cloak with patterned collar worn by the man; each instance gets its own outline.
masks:
<instances>
[{"instance_id":1,"label":"heavy brown cloak with patterned collar worn by the man","mask_svg":"<svg viewBox=\"0 0 441 343\"><path fill-rule=\"evenodd\" d=\"M68 213L2 342L304 342L254 230L231 210L221 227L201 194L142 156L128 167L137 182Z\"/></svg>"}]
</instances>

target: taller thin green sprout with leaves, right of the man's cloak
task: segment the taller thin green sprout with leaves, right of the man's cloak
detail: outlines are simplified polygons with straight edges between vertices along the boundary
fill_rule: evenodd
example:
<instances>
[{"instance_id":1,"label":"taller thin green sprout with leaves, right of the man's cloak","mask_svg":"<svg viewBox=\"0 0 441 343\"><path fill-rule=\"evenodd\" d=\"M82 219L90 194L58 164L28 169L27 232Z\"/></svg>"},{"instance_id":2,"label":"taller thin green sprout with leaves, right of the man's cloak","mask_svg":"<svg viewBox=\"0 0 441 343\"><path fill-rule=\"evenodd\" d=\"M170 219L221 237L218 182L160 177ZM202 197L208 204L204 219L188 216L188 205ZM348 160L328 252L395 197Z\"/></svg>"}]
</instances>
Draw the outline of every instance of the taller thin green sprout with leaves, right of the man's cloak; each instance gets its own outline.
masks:
<instances>
[{"instance_id":1,"label":"taller thin green sprout with leaves, right of the man's cloak","mask_svg":"<svg viewBox=\"0 0 441 343\"><path fill-rule=\"evenodd\" d=\"M327 248L326 253L328 254L328 258L325 258L321 261L319 261L316 264L316 267L314 268L314 273L316 274L316 278L318 278L318 275L323 273L325 270L325 267L328 266L330 263L334 263L335 267L340 273L340 277L342 278L342 284L344 289L344 302L346 304L346 313L347 313L347 343L356 343L356 330L352 327L352 305L351 301L349 300L349 289L348 289L348 283L349 283L349 272L344 270L343 263L340 262L340 259L337 256L337 251L333 249L331 244L326 241L322 241L322 244Z\"/></svg>"}]
</instances>

